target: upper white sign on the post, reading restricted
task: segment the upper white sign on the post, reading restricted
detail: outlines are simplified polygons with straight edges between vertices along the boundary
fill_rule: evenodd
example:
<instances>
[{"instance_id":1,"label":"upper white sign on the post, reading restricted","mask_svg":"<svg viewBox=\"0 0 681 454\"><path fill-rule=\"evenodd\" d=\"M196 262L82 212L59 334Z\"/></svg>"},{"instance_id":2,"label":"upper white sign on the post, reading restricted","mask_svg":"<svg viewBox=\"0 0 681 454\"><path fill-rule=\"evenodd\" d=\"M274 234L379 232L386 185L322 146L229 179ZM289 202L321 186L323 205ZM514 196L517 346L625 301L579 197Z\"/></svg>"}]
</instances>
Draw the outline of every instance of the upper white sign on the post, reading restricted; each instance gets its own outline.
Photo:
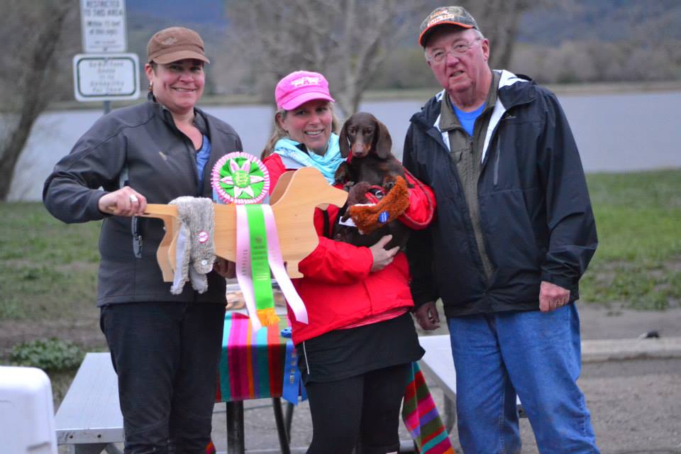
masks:
<instances>
[{"instance_id":1,"label":"upper white sign on the post, reading restricted","mask_svg":"<svg viewBox=\"0 0 681 454\"><path fill-rule=\"evenodd\" d=\"M126 1L80 0L84 52L125 52Z\"/></svg>"}]
</instances>

